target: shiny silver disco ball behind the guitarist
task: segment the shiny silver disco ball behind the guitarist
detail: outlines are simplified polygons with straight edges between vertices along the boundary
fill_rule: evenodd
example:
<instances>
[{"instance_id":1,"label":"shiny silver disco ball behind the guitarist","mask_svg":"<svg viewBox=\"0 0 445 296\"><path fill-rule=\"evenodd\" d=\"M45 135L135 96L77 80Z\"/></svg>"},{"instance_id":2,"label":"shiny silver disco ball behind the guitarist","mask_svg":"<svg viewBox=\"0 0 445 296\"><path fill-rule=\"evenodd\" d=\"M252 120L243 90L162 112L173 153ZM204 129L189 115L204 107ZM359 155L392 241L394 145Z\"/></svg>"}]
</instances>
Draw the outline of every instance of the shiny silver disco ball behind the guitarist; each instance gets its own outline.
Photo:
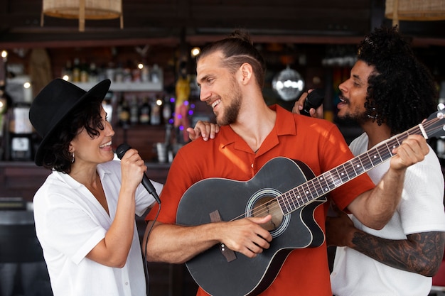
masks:
<instances>
[{"instance_id":1,"label":"shiny silver disco ball behind the guitarist","mask_svg":"<svg viewBox=\"0 0 445 296\"><path fill-rule=\"evenodd\" d=\"M284 101L292 101L299 97L299 94L303 91L304 80L299 72L288 66L274 77L272 88Z\"/></svg>"}]
</instances>

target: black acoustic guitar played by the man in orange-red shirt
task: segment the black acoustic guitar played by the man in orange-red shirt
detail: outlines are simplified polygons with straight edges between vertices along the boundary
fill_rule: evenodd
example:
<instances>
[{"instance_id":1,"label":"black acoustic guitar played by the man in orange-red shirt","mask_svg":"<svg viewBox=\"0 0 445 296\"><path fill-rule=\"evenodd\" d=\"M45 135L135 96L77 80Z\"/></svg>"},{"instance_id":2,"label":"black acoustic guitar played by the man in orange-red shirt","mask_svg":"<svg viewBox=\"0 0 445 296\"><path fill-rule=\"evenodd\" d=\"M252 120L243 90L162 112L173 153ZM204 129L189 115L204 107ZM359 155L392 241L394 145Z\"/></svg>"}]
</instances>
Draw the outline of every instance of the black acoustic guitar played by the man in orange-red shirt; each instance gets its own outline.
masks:
<instances>
[{"instance_id":1,"label":"black acoustic guitar played by the man in orange-red shirt","mask_svg":"<svg viewBox=\"0 0 445 296\"><path fill-rule=\"evenodd\" d=\"M270 248L255 258L218 243L186 266L200 287L214 296L258 295L272 284L282 264L296 248L321 246L324 234L313 219L326 194L392 158L392 150L407 136L444 136L444 111L367 152L315 177L302 162L277 157L251 180L208 178L196 182L181 198L176 223L196 226L272 214L264 228L272 234Z\"/></svg>"}]
</instances>

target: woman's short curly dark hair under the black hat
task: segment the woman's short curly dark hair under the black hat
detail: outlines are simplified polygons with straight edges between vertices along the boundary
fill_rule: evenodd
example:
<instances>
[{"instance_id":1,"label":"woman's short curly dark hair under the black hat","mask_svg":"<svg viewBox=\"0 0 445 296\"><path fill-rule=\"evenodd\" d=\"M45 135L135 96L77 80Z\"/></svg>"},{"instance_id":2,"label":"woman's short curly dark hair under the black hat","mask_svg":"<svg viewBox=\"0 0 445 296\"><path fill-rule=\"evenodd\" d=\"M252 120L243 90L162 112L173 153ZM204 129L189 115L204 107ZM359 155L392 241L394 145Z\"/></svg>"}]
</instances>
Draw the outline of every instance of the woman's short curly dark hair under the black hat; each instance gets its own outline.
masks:
<instances>
[{"instance_id":1,"label":"woman's short curly dark hair under the black hat","mask_svg":"<svg viewBox=\"0 0 445 296\"><path fill-rule=\"evenodd\" d=\"M94 138L103 131L104 124L100 114L102 102L95 99L85 99L77 105L55 129L50 141L45 145L43 167L59 172L70 173L73 155L70 153L70 142L83 128Z\"/></svg>"}]
</instances>

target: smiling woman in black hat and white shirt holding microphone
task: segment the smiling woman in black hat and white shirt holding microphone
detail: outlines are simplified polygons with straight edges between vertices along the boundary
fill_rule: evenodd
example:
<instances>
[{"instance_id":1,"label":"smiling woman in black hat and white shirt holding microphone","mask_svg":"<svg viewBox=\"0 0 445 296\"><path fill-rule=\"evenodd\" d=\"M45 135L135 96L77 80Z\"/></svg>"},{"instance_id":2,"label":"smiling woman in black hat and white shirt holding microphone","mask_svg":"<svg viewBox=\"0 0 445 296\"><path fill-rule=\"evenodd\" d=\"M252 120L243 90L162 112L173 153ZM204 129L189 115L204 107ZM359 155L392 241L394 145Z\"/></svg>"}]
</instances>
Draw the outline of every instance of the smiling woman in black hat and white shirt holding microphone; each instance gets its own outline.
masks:
<instances>
[{"instance_id":1,"label":"smiling woman in black hat and white shirt holding microphone","mask_svg":"<svg viewBox=\"0 0 445 296\"><path fill-rule=\"evenodd\" d=\"M134 215L154 198L141 186L146 166L136 150L112 161L114 131L102 108L109 86L85 92L56 79L31 105L43 138L35 162L53 170L33 204L55 296L146 295Z\"/></svg>"}]
</instances>

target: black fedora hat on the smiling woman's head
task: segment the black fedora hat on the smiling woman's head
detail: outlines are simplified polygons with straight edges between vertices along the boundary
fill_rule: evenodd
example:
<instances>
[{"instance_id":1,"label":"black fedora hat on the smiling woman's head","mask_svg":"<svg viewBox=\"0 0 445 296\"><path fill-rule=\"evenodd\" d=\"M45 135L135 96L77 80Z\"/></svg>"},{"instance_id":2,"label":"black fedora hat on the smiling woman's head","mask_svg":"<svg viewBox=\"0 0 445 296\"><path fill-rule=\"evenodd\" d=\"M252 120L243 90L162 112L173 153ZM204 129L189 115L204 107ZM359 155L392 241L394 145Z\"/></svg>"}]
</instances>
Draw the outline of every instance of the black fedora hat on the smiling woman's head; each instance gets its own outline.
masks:
<instances>
[{"instance_id":1,"label":"black fedora hat on the smiling woman's head","mask_svg":"<svg viewBox=\"0 0 445 296\"><path fill-rule=\"evenodd\" d=\"M38 135L42 137L34 159L36 165L42 165L45 144L48 143L60 121L63 121L70 111L85 99L102 102L110 84L110 80L103 80L86 92L73 83L57 78L43 87L29 109L29 120Z\"/></svg>"}]
</instances>

